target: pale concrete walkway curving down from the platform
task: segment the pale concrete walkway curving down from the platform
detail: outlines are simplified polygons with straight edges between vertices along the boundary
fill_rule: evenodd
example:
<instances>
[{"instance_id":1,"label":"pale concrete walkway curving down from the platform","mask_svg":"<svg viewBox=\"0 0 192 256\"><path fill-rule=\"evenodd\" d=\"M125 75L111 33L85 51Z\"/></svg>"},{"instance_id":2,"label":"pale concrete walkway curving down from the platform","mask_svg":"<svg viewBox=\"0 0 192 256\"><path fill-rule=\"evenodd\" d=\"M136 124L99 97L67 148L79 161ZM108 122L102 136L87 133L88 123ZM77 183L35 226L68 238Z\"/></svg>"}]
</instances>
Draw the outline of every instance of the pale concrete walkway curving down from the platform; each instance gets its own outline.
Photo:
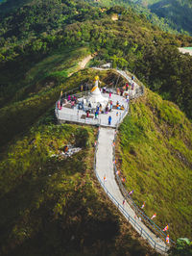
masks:
<instances>
[{"instance_id":1,"label":"pale concrete walkway curving down from the platform","mask_svg":"<svg viewBox=\"0 0 192 256\"><path fill-rule=\"evenodd\" d=\"M116 199L117 202L119 202L121 206L123 206L124 197L120 192L119 187L115 181L115 175L113 171L112 142L114 140L114 135L115 135L114 129L100 128L100 134L98 138L98 149L96 153L96 172L100 177L101 182L105 183L105 188L108 190L108 192L112 194L112 196ZM104 177L106 177L106 181L104 181ZM125 203L123 208L133 219L135 219L134 218L135 213L127 202ZM125 213L123 214L127 218L128 215L126 216ZM141 220L136 218L135 221L142 227L143 230L145 230L149 234L149 236L156 243L158 243L163 247L166 247L166 244L162 242L159 238L157 238L156 235L152 233L149 230L149 228L147 228ZM135 228L132 222L131 224L132 224L132 227ZM137 229L136 231L138 232ZM146 239L146 236L144 236L144 234L142 234L141 236L144 239ZM162 251L158 249L159 247L160 246L158 245L156 246L156 251L162 253Z\"/></svg>"}]
</instances>

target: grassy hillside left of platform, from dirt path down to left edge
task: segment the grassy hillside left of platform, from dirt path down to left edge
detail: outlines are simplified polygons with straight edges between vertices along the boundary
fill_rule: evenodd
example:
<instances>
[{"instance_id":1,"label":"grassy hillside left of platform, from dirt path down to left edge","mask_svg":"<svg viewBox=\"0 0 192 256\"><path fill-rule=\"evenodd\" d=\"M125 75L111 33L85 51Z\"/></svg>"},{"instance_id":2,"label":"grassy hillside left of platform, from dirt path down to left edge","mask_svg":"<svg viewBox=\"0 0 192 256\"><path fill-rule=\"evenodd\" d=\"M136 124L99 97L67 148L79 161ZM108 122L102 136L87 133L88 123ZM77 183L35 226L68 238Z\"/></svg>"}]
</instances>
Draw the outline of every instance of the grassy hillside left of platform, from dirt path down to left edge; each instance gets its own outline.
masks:
<instances>
[{"instance_id":1,"label":"grassy hillside left of platform, from dirt path down to left edge","mask_svg":"<svg viewBox=\"0 0 192 256\"><path fill-rule=\"evenodd\" d=\"M65 50L62 55L61 52L54 54L28 71L25 81L29 86L16 92L12 105L0 109L1 123L4 124L1 126L2 144L12 140L15 134L24 131L38 116L53 107L61 89L78 87L73 79L64 85L62 82L68 73L78 70L78 63L88 53L86 48L68 53Z\"/></svg>"}]
</instances>

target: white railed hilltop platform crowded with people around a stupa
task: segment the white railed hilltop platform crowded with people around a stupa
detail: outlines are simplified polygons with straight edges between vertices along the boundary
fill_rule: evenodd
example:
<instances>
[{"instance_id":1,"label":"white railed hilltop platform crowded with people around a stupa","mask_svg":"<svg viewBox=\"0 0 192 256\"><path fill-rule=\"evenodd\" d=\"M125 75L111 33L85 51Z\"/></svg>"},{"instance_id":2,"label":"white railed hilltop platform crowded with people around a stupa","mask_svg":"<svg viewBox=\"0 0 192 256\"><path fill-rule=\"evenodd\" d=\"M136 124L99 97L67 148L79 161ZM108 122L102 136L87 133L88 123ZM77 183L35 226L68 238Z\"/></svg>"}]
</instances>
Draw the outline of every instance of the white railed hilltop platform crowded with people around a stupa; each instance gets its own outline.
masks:
<instances>
[{"instance_id":1,"label":"white railed hilltop platform crowded with people around a stupa","mask_svg":"<svg viewBox=\"0 0 192 256\"><path fill-rule=\"evenodd\" d=\"M119 71L120 72L120 71ZM120 75L122 75L122 72ZM99 89L99 77L95 77L92 90L80 93L65 93L56 103L55 113L59 123L75 122L115 128L128 114L130 99L143 90L133 77L123 88L103 87Z\"/></svg>"}]
</instances>

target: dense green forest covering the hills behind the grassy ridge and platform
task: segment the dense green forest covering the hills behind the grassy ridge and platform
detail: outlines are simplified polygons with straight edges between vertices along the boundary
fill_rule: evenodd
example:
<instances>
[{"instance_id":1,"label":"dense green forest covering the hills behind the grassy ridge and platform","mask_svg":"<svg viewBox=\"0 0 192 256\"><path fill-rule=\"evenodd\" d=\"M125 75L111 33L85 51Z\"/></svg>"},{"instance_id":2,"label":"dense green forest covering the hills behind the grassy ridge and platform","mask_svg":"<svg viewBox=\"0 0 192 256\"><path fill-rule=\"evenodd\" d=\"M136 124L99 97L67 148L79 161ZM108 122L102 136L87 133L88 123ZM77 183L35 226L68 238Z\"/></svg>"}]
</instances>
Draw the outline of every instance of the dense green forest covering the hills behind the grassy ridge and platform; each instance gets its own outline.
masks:
<instances>
[{"instance_id":1,"label":"dense green forest covering the hills behind the grassy ridge and platform","mask_svg":"<svg viewBox=\"0 0 192 256\"><path fill-rule=\"evenodd\" d=\"M135 72L152 90L176 102L188 117L192 117L191 57L183 56L177 49L178 46L190 46L192 38L163 33L132 9L115 7L103 13L81 1L60 3L51 0L49 4L52 4L52 12L46 2L42 9L42 2L36 0L18 9L15 15L2 17L0 78L3 102L21 85L29 86L24 80L26 73L53 51L60 51L69 44L73 47L88 44L92 52L98 52L98 60L111 61L114 66ZM111 20L112 13L121 13L119 21ZM23 29L23 26L27 27Z\"/></svg>"}]
</instances>

